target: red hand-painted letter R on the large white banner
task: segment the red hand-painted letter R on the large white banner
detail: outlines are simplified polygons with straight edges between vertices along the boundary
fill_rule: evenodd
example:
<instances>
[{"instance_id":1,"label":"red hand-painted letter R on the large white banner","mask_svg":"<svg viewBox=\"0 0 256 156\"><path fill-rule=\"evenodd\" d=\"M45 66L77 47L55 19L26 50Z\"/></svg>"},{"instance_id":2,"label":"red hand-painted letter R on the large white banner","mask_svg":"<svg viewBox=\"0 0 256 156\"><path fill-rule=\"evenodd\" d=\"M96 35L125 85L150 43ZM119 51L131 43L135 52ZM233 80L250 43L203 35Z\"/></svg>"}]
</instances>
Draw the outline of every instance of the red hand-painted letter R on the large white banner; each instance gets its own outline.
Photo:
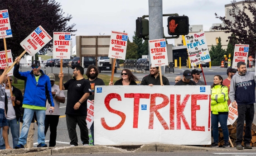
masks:
<instances>
[{"instance_id":1,"label":"red hand-painted letter R on the large white banner","mask_svg":"<svg viewBox=\"0 0 256 156\"><path fill-rule=\"evenodd\" d=\"M163 98L164 101L162 102L162 104L155 104L155 99L156 98ZM154 126L154 113L156 115L156 117L158 118L159 122L162 124L163 128L165 130L169 129L167 123L165 122L164 118L160 115L160 113L158 112L158 109L164 108L167 104L169 104L169 98L166 95L163 94L151 94L151 98L150 98L150 122L149 122L149 129L153 129Z\"/></svg>"}]
</instances>

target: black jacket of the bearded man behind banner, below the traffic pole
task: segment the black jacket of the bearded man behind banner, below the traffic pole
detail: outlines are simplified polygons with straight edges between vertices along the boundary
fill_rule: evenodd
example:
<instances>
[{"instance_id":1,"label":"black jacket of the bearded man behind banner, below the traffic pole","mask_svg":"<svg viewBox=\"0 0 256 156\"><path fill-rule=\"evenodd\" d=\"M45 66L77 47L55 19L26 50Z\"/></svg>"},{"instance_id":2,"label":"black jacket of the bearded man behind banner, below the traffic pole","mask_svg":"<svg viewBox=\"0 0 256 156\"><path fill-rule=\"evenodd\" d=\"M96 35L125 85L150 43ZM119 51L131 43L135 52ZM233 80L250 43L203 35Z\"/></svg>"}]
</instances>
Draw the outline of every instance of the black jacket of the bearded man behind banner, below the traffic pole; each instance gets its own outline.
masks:
<instances>
[{"instance_id":1,"label":"black jacket of the bearded man behind banner, below the traffic pole","mask_svg":"<svg viewBox=\"0 0 256 156\"><path fill-rule=\"evenodd\" d=\"M170 85L169 80L166 77L162 76L162 79L163 79L163 85ZM143 77L140 83L140 85L150 85L150 84L161 85L160 76L158 75L155 78L155 76L147 75Z\"/></svg>"}]
</instances>

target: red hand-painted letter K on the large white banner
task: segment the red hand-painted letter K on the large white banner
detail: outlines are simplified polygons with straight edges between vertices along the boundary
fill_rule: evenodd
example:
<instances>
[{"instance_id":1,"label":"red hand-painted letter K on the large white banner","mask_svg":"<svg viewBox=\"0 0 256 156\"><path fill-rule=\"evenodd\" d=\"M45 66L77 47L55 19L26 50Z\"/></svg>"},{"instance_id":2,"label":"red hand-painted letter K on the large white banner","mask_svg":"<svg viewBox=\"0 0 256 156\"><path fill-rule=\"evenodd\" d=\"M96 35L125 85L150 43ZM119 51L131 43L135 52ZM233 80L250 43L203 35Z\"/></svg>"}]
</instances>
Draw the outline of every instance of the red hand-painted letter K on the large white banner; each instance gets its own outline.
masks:
<instances>
[{"instance_id":1,"label":"red hand-painted letter K on the large white banner","mask_svg":"<svg viewBox=\"0 0 256 156\"><path fill-rule=\"evenodd\" d=\"M176 95L176 111L177 111L177 129L181 129L181 124L180 124L180 118L182 118L183 120L183 123L184 123L184 126L186 129L190 129L189 128L189 125L188 125L188 122L187 122L187 119L185 118L185 115L184 115L184 109L186 107L186 104L188 102L188 99L190 97L190 95L185 95L184 99L182 100L182 103L180 104L180 96L181 95Z\"/></svg>"}]
</instances>

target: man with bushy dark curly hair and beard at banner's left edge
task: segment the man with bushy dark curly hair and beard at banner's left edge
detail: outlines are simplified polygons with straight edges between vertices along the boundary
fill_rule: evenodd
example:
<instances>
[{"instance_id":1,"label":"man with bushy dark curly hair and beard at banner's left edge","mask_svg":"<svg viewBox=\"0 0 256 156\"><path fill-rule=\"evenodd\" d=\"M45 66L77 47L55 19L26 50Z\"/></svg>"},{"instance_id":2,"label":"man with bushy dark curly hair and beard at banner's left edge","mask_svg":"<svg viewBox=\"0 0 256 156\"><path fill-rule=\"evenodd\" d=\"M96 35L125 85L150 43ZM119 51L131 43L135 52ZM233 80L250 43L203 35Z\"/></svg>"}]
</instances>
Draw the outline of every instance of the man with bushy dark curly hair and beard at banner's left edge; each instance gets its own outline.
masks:
<instances>
[{"instance_id":1,"label":"man with bushy dark curly hair and beard at banner's left edge","mask_svg":"<svg viewBox=\"0 0 256 156\"><path fill-rule=\"evenodd\" d=\"M86 71L86 76L88 77L87 81L90 82L91 84L91 90L92 90L92 95L88 97L89 100L94 102L94 91L95 91L95 86L96 85L105 85L102 79L99 79L97 76L99 74L99 71L97 70L96 66L88 66L87 71ZM92 133L92 144L94 145L94 122L92 123L92 126L90 127L91 133Z\"/></svg>"}]
</instances>

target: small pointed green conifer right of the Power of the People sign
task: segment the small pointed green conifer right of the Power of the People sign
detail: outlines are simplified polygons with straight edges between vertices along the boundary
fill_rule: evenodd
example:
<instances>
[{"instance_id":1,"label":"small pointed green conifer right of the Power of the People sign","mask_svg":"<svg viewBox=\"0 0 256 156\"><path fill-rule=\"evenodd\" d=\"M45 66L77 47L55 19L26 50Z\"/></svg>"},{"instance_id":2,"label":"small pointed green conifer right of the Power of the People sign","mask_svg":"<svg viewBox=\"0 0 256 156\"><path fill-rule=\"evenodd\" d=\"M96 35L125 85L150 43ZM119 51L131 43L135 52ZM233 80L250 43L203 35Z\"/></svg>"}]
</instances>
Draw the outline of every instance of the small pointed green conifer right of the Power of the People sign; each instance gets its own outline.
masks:
<instances>
[{"instance_id":1,"label":"small pointed green conifer right of the Power of the People sign","mask_svg":"<svg viewBox=\"0 0 256 156\"><path fill-rule=\"evenodd\" d=\"M212 66L220 66L221 61L224 58L223 56L227 55L226 51L222 49L221 38L218 38L218 41L219 43L217 44L217 46L212 45L211 50L209 51Z\"/></svg>"}]
</instances>

